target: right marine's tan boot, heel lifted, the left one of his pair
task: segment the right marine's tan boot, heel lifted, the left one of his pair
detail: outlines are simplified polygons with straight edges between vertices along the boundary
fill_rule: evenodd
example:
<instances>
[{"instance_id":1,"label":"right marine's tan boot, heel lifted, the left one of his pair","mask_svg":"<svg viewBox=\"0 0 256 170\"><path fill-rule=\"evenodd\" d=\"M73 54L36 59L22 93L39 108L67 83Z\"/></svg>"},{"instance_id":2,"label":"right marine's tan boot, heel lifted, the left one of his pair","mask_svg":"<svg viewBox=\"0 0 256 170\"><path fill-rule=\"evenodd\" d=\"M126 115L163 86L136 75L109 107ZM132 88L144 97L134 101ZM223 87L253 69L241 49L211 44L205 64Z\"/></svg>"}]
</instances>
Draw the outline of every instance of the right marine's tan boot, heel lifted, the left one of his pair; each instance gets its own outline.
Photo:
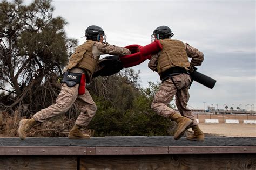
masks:
<instances>
[{"instance_id":1,"label":"right marine's tan boot, heel lifted, the left one of his pair","mask_svg":"<svg viewBox=\"0 0 256 170\"><path fill-rule=\"evenodd\" d=\"M193 121L191 119L181 116L177 112L171 115L170 118L178 124L177 131L175 132L173 137L175 140L181 138L181 136L183 136L186 130L193 125Z\"/></svg>"}]
</instances>

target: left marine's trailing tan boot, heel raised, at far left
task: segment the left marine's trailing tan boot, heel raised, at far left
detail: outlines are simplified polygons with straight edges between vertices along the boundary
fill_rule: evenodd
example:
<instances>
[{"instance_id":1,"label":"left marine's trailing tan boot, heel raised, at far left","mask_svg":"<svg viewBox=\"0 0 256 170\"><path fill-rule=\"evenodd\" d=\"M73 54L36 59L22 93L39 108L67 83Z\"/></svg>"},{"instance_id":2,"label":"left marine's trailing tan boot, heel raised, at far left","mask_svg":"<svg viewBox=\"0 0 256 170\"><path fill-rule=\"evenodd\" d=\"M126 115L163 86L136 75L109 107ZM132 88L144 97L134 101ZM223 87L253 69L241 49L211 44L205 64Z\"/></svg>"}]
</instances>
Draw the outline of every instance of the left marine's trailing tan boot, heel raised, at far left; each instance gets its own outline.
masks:
<instances>
[{"instance_id":1,"label":"left marine's trailing tan boot, heel raised, at far left","mask_svg":"<svg viewBox=\"0 0 256 170\"><path fill-rule=\"evenodd\" d=\"M18 129L19 138L21 138L21 140L24 140L26 138L26 133L28 133L28 131L37 123L39 122L35 121L34 118L23 119L19 121L19 129Z\"/></svg>"}]
</instances>

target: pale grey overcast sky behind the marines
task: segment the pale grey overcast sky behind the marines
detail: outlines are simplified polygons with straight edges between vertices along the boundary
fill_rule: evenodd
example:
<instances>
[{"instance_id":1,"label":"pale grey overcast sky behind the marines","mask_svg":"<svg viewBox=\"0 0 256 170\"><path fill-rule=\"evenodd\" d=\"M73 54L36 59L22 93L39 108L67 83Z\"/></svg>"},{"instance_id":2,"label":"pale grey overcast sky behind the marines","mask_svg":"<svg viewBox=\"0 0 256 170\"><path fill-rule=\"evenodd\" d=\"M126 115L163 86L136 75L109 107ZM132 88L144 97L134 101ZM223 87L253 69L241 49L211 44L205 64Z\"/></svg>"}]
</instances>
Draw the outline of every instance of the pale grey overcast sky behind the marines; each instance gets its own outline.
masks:
<instances>
[{"instance_id":1,"label":"pale grey overcast sky behind the marines","mask_svg":"<svg viewBox=\"0 0 256 170\"><path fill-rule=\"evenodd\" d=\"M188 102L191 109L217 104L218 109L224 104L256 109L255 1L53 0L52 5L54 15L69 23L65 27L68 37L78 39L79 45L85 41L84 31L90 25L102 27L107 42L117 46L147 45L156 27L169 26L172 39L204 53L199 72L217 80L213 89L193 82ZM149 81L160 82L147 63L132 67L140 70L142 87Z\"/></svg>"}]
</instances>

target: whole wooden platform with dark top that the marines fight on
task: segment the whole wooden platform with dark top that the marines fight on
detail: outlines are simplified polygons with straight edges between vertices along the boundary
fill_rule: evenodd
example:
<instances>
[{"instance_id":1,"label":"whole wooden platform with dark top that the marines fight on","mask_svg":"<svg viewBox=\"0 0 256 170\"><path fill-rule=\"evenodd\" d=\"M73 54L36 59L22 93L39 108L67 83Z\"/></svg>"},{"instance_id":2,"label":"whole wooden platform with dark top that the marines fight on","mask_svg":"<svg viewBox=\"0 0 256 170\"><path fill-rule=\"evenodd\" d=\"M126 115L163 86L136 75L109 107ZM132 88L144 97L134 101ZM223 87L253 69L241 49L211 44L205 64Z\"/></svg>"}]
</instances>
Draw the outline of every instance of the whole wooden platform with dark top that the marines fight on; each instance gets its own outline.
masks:
<instances>
[{"instance_id":1,"label":"whole wooden platform with dark top that the marines fight on","mask_svg":"<svg viewBox=\"0 0 256 170\"><path fill-rule=\"evenodd\" d=\"M256 169L256 138L0 138L0 169Z\"/></svg>"}]
</instances>

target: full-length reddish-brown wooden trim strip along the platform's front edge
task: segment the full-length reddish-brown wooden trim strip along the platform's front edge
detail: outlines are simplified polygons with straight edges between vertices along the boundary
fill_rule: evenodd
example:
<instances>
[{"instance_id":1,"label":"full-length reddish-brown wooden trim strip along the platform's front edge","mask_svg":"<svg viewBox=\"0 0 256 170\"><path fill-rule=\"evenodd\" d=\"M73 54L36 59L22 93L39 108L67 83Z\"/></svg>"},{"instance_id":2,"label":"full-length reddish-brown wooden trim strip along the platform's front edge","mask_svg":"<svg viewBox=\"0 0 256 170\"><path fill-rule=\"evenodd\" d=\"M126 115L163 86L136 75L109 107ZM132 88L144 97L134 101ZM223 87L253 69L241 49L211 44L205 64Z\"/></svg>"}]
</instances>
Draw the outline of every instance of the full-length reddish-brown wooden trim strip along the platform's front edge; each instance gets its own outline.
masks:
<instances>
[{"instance_id":1,"label":"full-length reddish-brown wooden trim strip along the platform's front edge","mask_svg":"<svg viewBox=\"0 0 256 170\"><path fill-rule=\"evenodd\" d=\"M256 153L256 146L59 147L2 146L0 155L160 155Z\"/></svg>"}]
</instances>

